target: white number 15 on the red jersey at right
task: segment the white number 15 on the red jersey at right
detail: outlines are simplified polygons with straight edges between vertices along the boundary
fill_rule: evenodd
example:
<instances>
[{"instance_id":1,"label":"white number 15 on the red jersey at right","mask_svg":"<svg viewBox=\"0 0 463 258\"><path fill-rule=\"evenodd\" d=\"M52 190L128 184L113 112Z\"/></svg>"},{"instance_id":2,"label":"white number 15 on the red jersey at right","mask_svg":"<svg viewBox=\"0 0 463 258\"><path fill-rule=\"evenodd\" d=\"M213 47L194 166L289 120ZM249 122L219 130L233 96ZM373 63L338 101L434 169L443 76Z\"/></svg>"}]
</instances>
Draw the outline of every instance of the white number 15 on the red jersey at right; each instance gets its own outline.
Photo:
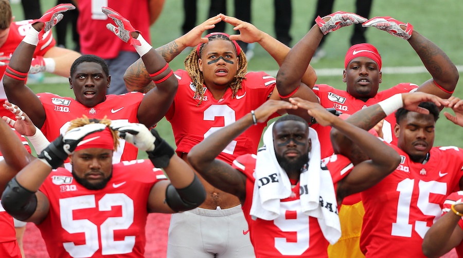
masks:
<instances>
[{"instance_id":1,"label":"white number 15 on the red jersey at right","mask_svg":"<svg viewBox=\"0 0 463 258\"><path fill-rule=\"evenodd\" d=\"M405 178L397 185L399 202L397 205L397 220L392 224L391 235L412 237L413 224L410 223L410 210L412 205L412 194L415 186L415 179ZM426 216L433 216L434 222L440 217L441 208L439 204L429 202L430 194L447 194L447 183L438 181L418 181L417 207ZM421 238L428 232L430 227L426 222L416 220L415 231Z\"/></svg>"}]
</instances>

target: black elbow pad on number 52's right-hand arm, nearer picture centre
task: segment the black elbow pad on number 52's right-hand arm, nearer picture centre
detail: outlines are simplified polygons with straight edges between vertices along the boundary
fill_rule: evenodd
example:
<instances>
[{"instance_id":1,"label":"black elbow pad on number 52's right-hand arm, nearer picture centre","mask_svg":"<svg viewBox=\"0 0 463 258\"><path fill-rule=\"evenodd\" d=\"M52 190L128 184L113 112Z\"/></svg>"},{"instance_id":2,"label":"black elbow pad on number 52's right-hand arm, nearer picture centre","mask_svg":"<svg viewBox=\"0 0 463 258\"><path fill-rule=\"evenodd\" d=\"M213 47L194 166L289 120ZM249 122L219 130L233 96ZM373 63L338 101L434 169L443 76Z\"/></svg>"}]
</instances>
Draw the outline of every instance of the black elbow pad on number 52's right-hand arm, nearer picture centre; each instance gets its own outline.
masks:
<instances>
[{"instance_id":1,"label":"black elbow pad on number 52's right-hand arm, nearer picture centre","mask_svg":"<svg viewBox=\"0 0 463 258\"><path fill-rule=\"evenodd\" d=\"M200 206L206 199L206 190L199 178L194 175L193 181L183 189L172 185L166 189L166 204L175 212L187 211Z\"/></svg>"}]
</instances>

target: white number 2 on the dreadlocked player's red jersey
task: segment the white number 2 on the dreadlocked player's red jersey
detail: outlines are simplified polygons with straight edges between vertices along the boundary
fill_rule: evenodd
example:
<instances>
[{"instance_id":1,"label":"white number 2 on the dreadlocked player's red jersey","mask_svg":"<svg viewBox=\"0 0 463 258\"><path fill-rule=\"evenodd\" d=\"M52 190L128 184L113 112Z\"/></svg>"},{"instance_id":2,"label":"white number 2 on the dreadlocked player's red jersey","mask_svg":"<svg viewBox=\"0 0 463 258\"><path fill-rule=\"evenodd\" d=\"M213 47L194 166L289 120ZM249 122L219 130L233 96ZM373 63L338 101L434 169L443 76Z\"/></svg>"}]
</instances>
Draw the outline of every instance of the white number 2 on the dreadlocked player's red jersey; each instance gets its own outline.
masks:
<instances>
[{"instance_id":1,"label":"white number 2 on the dreadlocked player's red jersey","mask_svg":"<svg viewBox=\"0 0 463 258\"><path fill-rule=\"evenodd\" d=\"M204 138L213 134L214 132L220 130L221 128L232 124L236 121L235 110L227 105L211 105L206 110L204 110L204 120L205 121L214 121L216 117L223 117L223 126L211 127L205 134ZM236 148L236 141L233 140L225 147L222 151L223 153L233 155L233 152Z\"/></svg>"}]
</instances>

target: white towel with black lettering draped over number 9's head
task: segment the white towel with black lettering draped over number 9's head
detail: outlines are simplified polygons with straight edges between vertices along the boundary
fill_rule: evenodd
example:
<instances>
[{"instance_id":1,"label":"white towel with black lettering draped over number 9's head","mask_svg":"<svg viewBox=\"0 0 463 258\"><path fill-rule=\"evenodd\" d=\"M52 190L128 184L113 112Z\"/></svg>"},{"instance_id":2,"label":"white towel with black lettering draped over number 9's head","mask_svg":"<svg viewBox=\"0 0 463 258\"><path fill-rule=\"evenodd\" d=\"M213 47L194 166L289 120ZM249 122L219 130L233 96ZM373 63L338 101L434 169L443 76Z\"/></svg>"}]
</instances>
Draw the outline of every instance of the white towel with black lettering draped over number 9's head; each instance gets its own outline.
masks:
<instances>
[{"instance_id":1,"label":"white towel with black lettering draped over number 9's head","mask_svg":"<svg viewBox=\"0 0 463 258\"><path fill-rule=\"evenodd\" d=\"M291 182L286 172L280 167L273 145L273 124L269 125L263 136L265 148L257 153L254 195L250 215L253 218L274 220L280 215L280 200L291 196ZM300 196L301 211L305 215L316 217L323 235L334 244L341 237L341 225L337 214L336 194L333 179L325 164L320 160L320 142L318 134L309 127L309 138L312 149L309 153L309 167L299 177L299 185L307 185L308 194ZM322 165L320 165L322 164ZM323 169L322 169L323 167ZM276 176L274 175L276 174ZM268 178L276 177L273 182ZM270 181L260 188L260 180ZM320 198L324 204L332 204L332 210L320 206Z\"/></svg>"}]
</instances>

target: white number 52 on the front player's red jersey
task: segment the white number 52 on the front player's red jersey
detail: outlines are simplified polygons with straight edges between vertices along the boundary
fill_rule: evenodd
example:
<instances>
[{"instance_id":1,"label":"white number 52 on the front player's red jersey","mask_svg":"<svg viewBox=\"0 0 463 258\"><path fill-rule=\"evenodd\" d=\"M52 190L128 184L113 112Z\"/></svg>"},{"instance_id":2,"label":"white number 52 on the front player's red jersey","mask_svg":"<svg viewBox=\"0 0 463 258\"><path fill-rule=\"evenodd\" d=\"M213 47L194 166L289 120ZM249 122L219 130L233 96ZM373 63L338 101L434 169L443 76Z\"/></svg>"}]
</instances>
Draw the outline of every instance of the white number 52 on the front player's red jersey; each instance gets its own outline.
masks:
<instances>
[{"instance_id":1,"label":"white number 52 on the front player's red jersey","mask_svg":"<svg viewBox=\"0 0 463 258\"><path fill-rule=\"evenodd\" d=\"M121 207L121 217L109 217L100 226L102 255L130 253L135 246L135 236L124 240L114 240L114 230L128 229L133 223L133 200L123 193L105 194L98 201L99 211L110 211ZM99 249L98 226L88 219L74 219L73 211L96 208L95 195L82 195L60 199L60 219L64 230L69 234L84 233L85 245L73 242L63 243L64 249L72 257L91 257Z\"/></svg>"}]
</instances>

